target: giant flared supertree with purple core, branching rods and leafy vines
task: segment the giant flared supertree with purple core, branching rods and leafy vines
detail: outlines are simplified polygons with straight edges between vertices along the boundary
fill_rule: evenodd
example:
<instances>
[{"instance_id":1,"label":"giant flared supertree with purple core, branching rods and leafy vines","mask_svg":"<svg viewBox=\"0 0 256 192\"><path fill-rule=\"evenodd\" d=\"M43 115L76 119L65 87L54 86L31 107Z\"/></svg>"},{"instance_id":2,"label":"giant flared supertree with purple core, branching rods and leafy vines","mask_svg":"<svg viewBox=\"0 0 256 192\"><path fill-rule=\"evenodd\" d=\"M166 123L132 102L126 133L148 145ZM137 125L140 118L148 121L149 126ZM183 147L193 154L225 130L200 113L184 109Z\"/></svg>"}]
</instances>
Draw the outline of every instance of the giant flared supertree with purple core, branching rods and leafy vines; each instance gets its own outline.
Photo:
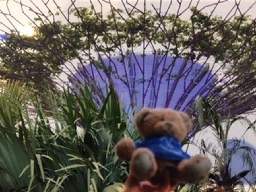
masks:
<instances>
[{"instance_id":1,"label":"giant flared supertree with purple core, branching rods and leafy vines","mask_svg":"<svg viewBox=\"0 0 256 192\"><path fill-rule=\"evenodd\" d=\"M247 16L255 3L241 11L234 1L221 18L214 16L227 3L220 0L83 2L6 1L1 76L37 90L87 84L98 104L112 84L130 109L192 112L197 96L224 117L255 109L255 18ZM16 28L23 23L13 5L32 36Z\"/></svg>"}]
</instances>

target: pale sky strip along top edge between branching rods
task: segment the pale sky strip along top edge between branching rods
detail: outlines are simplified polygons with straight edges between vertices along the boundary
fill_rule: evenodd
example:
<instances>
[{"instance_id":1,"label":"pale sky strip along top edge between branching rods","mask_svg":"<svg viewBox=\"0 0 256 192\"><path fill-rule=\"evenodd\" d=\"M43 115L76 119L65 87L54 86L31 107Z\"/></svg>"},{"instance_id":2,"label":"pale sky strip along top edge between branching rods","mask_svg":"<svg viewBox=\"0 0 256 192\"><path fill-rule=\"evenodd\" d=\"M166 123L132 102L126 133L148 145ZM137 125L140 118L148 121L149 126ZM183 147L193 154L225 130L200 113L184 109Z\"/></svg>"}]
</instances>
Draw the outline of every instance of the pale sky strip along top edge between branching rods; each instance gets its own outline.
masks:
<instances>
[{"instance_id":1,"label":"pale sky strip along top edge between branching rods","mask_svg":"<svg viewBox=\"0 0 256 192\"><path fill-rule=\"evenodd\" d=\"M207 5L211 5L214 4L216 2L218 2L219 0L200 0L199 4L198 4L198 8L201 9ZM222 0L223 1L223 0ZM225 0L224 0L225 1ZM8 3L7 3L8 2ZM18 21L20 23L22 23L23 25L27 25L28 22L30 22L29 18L34 18L34 16L36 16L36 14L32 13L31 11L29 11L29 8L26 6L21 7L19 3L17 3L19 1L16 0L0 0L0 13L6 13L6 14L10 14L12 15L14 18L18 19ZM22 0L21 1L24 5L28 5L30 7L33 8L33 10L37 10L37 13L40 13L40 11L42 10L43 13L47 13L47 7L43 4L43 2L46 2L46 0L44 1L40 1L40 0ZM71 1L70 0L55 0L55 2L57 2L58 6L61 7L61 10L63 10L63 12L65 14L67 14L67 10L69 9L70 5L71 5ZM100 4L98 3L97 0L92 0L94 6L96 7L96 9L100 10ZM107 13L110 10L110 6L108 5L108 3L103 2L102 0L100 1L102 3L102 7L103 7L103 12ZM123 8L123 4L121 3L121 0L111 0L112 4L115 7L119 7L119 8ZM129 0L128 1L131 4L135 4L135 0ZM156 8L160 6L160 1L159 0L146 0L146 7L147 9L153 9L152 5L154 5ZM165 11L169 5L168 0L163 0L162 1L162 11ZM178 9L178 1L177 0L173 0L172 1L172 5L170 7L169 13L176 13L177 9ZM183 0L181 1L181 9L180 10L184 10L189 6L190 0ZM219 16L226 16L227 13L232 9L232 7L234 6L234 2L235 0L227 0L223 3L220 3L218 5L218 7L216 7L213 15L219 15ZM239 2L239 0L236 0L236 2ZM33 4L34 3L34 4ZM143 8L143 0L139 0L137 3L137 7L138 8ZM195 5L197 3L197 0L193 0L190 7ZM241 0L240 1L240 9L241 12L245 12L253 3L255 3L255 0ZM8 5L8 6L7 6ZM48 2L48 7L54 11L57 11L56 5L53 2L53 0L49 0ZM90 1L89 0L76 0L75 1L75 5L77 7L80 6L85 6L88 7L90 6ZM127 6L129 7L129 5ZM9 8L9 10L8 10ZM22 13L22 9L24 11L24 13ZM212 9L214 8L214 6L208 6L204 8L204 11L206 13L210 13L212 11ZM247 13L249 15L252 15L253 18L256 17L256 11L254 11L256 9L256 5L254 5ZM231 12L231 14L234 13L234 11ZM237 13L239 14L239 13ZM28 17L27 17L27 16ZM189 18L190 15L190 11L187 10L182 14L183 18ZM15 21L13 18L11 18L11 16L7 16L8 19L13 22L13 24L15 26L19 26L20 23ZM63 18L60 18L63 19ZM0 33L1 30L5 30L6 26L11 27L11 24L9 23L9 21L7 20L7 18L4 16L4 14L0 14Z\"/></svg>"}]
</instances>

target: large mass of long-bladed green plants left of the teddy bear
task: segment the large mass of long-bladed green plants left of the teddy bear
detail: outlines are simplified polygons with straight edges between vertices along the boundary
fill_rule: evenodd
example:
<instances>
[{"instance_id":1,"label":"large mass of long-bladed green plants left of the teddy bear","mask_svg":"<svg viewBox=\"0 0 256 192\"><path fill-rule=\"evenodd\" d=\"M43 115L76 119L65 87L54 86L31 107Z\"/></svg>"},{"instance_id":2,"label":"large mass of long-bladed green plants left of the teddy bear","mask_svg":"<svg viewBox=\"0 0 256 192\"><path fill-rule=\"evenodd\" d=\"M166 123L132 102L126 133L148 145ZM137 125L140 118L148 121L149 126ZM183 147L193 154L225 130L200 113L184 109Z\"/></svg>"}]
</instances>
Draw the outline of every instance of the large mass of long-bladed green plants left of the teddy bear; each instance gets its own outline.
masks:
<instances>
[{"instance_id":1,"label":"large mass of long-bladed green plants left of the teddy bear","mask_svg":"<svg viewBox=\"0 0 256 192\"><path fill-rule=\"evenodd\" d=\"M127 165L115 156L114 145L127 123L114 90L102 106L88 88L79 96L64 90L49 97L51 111L43 111L37 100L33 116L25 110L15 117L16 125L0 120L1 191L102 191L122 183Z\"/></svg>"}]
</instances>

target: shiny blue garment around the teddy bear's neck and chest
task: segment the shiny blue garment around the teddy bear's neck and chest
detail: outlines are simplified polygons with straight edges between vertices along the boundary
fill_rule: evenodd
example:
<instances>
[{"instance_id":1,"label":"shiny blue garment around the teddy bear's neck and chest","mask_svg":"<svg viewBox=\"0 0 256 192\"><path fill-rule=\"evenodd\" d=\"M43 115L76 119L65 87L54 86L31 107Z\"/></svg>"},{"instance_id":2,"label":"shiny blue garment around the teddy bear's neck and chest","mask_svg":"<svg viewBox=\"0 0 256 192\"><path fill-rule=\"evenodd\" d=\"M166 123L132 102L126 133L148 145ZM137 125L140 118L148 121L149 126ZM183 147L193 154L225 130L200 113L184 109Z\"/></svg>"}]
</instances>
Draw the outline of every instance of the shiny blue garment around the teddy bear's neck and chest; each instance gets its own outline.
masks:
<instances>
[{"instance_id":1,"label":"shiny blue garment around the teddy bear's neck and chest","mask_svg":"<svg viewBox=\"0 0 256 192\"><path fill-rule=\"evenodd\" d=\"M146 147L150 149L156 158L165 160L183 160L190 156L181 148L179 140L170 136L160 136L135 142L136 148Z\"/></svg>"}]
</instances>

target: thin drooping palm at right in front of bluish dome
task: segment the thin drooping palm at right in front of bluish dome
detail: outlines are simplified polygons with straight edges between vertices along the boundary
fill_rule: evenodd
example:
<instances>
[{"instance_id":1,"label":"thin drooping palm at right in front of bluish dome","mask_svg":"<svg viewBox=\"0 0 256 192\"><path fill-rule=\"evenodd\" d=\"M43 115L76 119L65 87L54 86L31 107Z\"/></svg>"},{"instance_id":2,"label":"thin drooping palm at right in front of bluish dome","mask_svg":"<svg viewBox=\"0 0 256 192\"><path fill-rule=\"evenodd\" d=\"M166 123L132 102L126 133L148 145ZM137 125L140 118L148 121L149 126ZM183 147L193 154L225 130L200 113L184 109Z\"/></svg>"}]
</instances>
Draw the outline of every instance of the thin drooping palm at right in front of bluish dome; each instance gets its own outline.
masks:
<instances>
[{"instance_id":1,"label":"thin drooping palm at right in front of bluish dome","mask_svg":"<svg viewBox=\"0 0 256 192\"><path fill-rule=\"evenodd\" d=\"M204 140L201 141L203 152L209 152L216 159L216 165L212 173L210 173L208 184L214 186L213 188L216 191L235 191L238 185L243 186L241 179L247 176L247 174L255 174L256 162L254 157L256 150L248 146L243 146L241 139L228 139L228 136L235 122L241 121L249 125L246 131L249 129L255 131L255 122L249 121L244 116L237 116L223 121L221 116L206 100L202 100L202 106L200 108L204 110L199 113L199 120L206 123L213 130L214 136L218 141L218 146L206 146ZM240 156L243 164L248 166L248 168L234 175L231 162L236 155Z\"/></svg>"}]
</instances>

